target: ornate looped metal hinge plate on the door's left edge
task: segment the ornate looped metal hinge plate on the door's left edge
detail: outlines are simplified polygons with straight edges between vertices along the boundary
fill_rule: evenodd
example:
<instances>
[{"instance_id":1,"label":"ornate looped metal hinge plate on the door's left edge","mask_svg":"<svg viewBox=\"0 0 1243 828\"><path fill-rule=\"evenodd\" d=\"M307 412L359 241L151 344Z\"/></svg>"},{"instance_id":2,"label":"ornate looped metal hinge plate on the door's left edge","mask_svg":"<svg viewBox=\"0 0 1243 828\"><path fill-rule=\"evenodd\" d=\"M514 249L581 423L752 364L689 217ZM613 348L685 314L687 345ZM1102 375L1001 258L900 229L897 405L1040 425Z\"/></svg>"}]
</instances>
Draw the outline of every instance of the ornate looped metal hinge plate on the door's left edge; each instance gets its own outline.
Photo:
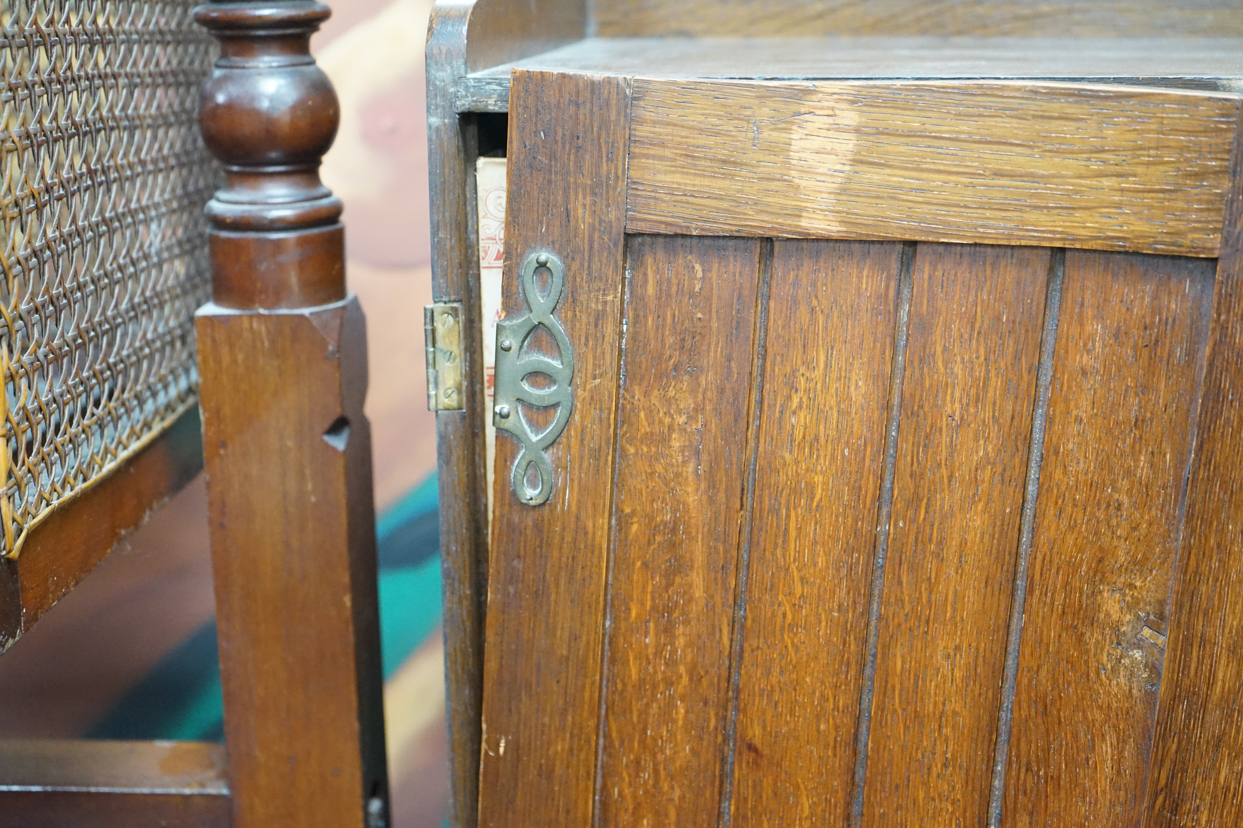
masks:
<instances>
[{"instance_id":1,"label":"ornate looped metal hinge plate on the door's left edge","mask_svg":"<svg viewBox=\"0 0 1243 828\"><path fill-rule=\"evenodd\" d=\"M547 289L542 292L537 278L541 269L548 272ZM564 283L566 267L554 253L528 253L520 271L518 290L531 313L506 317L496 325L496 402L492 423L522 443L522 452L513 463L510 480L518 500L532 506L547 502L552 494L552 464L546 452L566 430L574 406L571 385L574 379L574 350L566 329L552 315L561 302ZM552 335L557 355L543 354L532 346L532 336L539 328ZM556 407L552 425L537 432L520 403L532 410ZM533 475L538 478L538 485L534 485Z\"/></svg>"}]
</instances>

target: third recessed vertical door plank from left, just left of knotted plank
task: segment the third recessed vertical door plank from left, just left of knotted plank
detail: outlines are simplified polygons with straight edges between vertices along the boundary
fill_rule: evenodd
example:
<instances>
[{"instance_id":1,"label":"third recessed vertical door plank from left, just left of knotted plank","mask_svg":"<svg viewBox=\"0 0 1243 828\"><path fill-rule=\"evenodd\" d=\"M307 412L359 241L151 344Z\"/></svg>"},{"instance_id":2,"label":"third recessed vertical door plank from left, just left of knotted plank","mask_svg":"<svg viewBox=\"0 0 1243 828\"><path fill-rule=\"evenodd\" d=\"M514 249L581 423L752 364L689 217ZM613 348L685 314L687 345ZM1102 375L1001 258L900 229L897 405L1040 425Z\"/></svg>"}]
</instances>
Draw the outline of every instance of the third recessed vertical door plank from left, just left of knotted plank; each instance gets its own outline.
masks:
<instances>
[{"instance_id":1,"label":"third recessed vertical door plank from left, just left of knotted plank","mask_svg":"<svg viewBox=\"0 0 1243 828\"><path fill-rule=\"evenodd\" d=\"M983 824L1049 251L920 245L863 826Z\"/></svg>"}]
</instances>

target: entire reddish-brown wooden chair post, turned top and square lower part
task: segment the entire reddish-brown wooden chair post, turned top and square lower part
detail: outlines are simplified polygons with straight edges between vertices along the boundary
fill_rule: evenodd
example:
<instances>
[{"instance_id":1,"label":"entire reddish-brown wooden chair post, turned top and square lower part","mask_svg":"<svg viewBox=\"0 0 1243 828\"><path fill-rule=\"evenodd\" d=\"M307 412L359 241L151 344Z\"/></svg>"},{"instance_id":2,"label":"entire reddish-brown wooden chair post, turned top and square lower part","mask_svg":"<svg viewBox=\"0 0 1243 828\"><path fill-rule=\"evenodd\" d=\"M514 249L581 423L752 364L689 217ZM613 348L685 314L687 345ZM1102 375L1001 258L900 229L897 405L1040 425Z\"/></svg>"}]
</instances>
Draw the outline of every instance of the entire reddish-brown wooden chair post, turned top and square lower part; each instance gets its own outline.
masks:
<instances>
[{"instance_id":1,"label":"entire reddish-brown wooden chair post, turned top and square lower part","mask_svg":"<svg viewBox=\"0 0 1243 828\"><path fill-rule=\"evenodd\" d=\"M388 822L365 330L318 175L339 118L310 55L328 14L196 12L221 45L198 353L235 828Z\"/></svg>"}]
</instances>

